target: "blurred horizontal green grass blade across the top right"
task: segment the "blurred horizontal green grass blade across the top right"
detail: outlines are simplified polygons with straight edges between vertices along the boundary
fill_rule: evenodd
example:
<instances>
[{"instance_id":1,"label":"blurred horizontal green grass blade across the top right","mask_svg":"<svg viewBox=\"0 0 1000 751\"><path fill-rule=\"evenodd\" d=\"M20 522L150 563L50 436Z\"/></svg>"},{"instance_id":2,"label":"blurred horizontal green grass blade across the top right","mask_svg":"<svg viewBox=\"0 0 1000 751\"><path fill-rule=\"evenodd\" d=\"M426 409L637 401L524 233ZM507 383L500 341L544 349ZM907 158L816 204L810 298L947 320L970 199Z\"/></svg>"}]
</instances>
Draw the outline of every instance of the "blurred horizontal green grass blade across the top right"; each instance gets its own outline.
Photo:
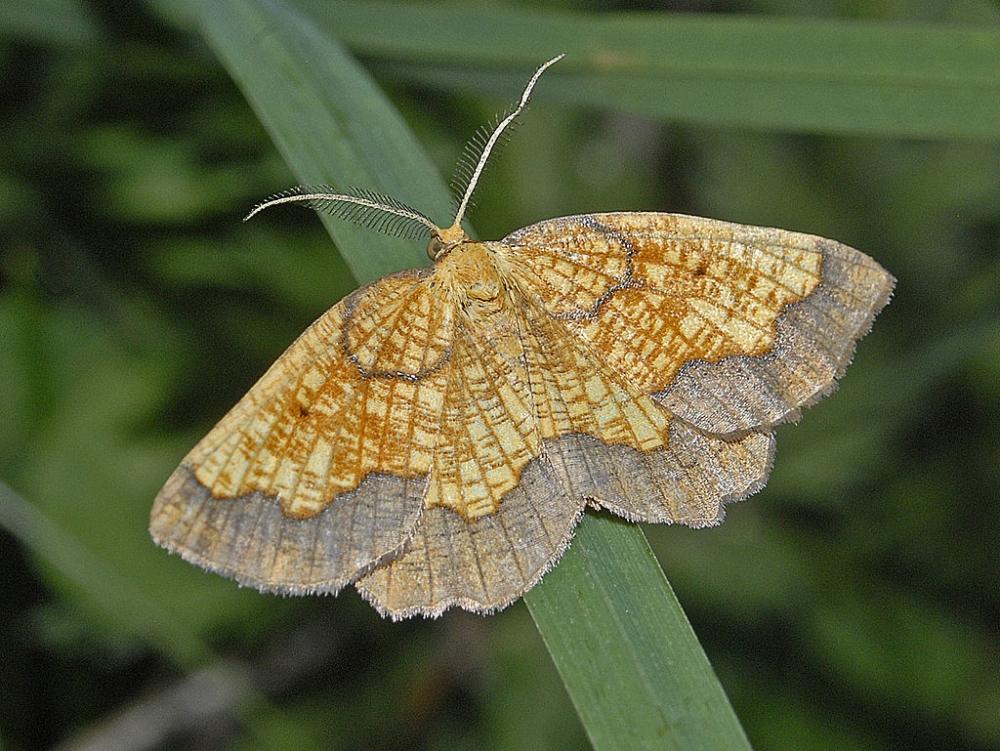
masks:
<instances>
[{"instance_id":1,"label":"blurred horizontal green grass blade across the top right","mask_svg":"<svg viewBox=\"0 0 1000 751\"><path fill-rule=\"evenodd\" d=\"M1000 29L819 18L567 14L490 4L296 0L353 50L448 90L540 96L710 125L1000 137Z\"/></svg>"}]
</instances>

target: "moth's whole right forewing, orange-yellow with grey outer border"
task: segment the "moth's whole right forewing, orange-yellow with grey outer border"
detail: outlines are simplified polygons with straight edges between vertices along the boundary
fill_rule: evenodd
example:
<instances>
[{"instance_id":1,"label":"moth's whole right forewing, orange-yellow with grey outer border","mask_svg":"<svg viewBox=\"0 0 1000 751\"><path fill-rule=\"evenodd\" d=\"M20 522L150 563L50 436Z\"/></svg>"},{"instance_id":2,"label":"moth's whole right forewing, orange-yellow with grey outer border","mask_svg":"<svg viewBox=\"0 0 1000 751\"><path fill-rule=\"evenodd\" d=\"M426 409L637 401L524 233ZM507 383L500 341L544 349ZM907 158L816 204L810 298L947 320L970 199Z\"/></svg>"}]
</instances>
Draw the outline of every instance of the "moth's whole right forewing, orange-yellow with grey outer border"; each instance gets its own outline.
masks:
<instances>
[{"instance_id":1,"label":"moth's whole right forewing, orange-yellow with grey outer border","mask_svg":"<svg viewBox=\"0 0 1000 751\"><path fill-rule=\"evenodd\" d=\"M676 214L553 219L498 248L603 362L722 435L793 419L831 390L894 283L832 240Z\"/></svg>"}]
</instances>

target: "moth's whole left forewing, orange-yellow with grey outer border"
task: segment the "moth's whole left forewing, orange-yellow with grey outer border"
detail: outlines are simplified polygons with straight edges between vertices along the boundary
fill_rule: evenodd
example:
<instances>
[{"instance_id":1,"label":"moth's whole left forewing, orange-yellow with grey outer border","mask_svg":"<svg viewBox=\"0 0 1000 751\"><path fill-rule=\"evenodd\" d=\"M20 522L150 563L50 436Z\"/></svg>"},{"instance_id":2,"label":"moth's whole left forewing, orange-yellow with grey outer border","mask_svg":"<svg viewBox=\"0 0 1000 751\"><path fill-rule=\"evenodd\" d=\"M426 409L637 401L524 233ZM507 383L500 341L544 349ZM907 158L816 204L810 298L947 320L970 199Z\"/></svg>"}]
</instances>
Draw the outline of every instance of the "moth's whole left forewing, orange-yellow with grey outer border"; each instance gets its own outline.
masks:
<instances>
[{"instance_id":1,"label":"moth's whole left forewing, orange-yellow with grey outer border","mask_svg":"<svg viewBox=\"0 0 1000 751\"><path fill-rule=\"evenodd\" d=\"M185 457L157 496L154 538L283 592L336 591L398 551L425 495L446 373L368 372L352 360L347 332L352 323L388 330L377 345L354 343L379 371L440 358L450 329L424 327L421 337L412 321L426 309L413 289L423 276L386 278L310 326ZM408 315L390 307L379 320L365 303L383 293L406 301ZM393 336L397 323L402 338Z\"/></svg>"}]
</instances>

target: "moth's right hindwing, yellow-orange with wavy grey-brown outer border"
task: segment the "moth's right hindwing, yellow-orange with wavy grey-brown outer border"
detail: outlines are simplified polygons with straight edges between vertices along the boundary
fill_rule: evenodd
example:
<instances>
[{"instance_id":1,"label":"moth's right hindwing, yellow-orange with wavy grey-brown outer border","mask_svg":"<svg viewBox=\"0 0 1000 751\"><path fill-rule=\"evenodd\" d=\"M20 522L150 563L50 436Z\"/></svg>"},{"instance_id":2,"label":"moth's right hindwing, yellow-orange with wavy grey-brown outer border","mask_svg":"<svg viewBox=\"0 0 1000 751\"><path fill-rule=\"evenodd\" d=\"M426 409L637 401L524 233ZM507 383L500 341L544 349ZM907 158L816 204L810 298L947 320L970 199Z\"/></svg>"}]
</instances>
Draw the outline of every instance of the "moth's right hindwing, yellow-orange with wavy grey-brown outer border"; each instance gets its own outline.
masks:
<instances>
[{"instance_id":1,"label":"moth's right hindwing, yellow-orange with wavy grey-brown outer border","mask_svg":"<svg viewBox=\"0 0 1000 751\"><path fill-rule=\"evenodd\" d=\"M705 526L725 502L763 485L769 434L724 440L683 425L565 323L529 301L523 310L533 391L544 395L536 408L540 424L551 425L545 452L571 495L632 520Z\"/></svg>"}]
</instances>

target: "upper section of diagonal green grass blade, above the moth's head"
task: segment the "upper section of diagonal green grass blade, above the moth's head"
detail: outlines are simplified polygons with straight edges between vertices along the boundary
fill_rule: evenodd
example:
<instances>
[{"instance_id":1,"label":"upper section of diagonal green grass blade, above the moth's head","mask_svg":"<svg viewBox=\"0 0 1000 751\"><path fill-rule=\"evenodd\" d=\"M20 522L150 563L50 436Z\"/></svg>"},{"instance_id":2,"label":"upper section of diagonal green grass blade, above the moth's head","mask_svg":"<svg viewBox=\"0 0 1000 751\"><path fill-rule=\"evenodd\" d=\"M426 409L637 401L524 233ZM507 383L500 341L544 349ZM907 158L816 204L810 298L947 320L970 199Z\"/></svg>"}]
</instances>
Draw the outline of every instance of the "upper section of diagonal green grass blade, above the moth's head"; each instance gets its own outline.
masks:
<instances>
[{"instance_id":1,"label":"upper section of diagonal green grass blade, above the moth's head","mask_svg":"<svg viewBox=\"0 0 1000 751\"><path fill-rule=\"evenodd\" d=\"M450 223L434 164L339 45L276 2L189 7L300 183L378 190ZM358 282L428 262L419 243L320 216Z\"/></svg>"}]
</instances>

